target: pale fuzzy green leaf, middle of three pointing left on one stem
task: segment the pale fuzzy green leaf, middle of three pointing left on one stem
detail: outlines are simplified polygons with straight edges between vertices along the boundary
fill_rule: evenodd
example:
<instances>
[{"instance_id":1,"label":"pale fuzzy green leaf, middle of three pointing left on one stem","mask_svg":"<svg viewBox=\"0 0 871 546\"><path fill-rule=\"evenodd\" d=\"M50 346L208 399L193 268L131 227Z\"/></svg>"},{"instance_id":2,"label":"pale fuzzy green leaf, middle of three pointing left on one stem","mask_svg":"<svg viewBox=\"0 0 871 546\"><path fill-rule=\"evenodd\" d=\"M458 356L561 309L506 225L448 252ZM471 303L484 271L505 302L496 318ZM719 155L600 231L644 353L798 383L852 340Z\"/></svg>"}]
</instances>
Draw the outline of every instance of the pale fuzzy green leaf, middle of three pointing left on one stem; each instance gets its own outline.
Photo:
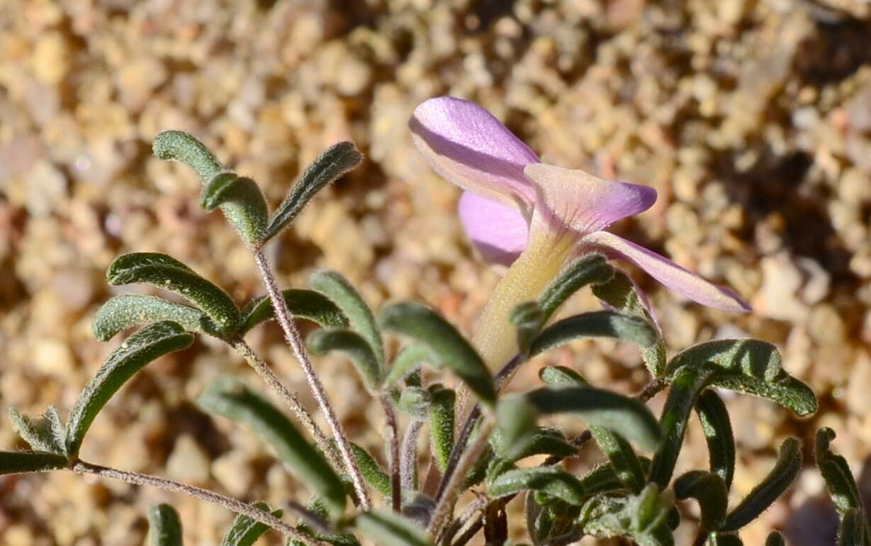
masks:
<instances>
[{"instance_id":1,"label":"pale fuzzy green leaf, middle of three pointing left on one stem","mask_svg":"<svg viewBox=\"0 0 871 546\"><path fill-rule=\"evenodd\" d=\"M178 323L188 332L219 336L214 321L197 308L156 296L125 293L106 301L94 315L91 331L100 341L108 341L127 328L162 320Z\"/></svg>"}]
</instances>

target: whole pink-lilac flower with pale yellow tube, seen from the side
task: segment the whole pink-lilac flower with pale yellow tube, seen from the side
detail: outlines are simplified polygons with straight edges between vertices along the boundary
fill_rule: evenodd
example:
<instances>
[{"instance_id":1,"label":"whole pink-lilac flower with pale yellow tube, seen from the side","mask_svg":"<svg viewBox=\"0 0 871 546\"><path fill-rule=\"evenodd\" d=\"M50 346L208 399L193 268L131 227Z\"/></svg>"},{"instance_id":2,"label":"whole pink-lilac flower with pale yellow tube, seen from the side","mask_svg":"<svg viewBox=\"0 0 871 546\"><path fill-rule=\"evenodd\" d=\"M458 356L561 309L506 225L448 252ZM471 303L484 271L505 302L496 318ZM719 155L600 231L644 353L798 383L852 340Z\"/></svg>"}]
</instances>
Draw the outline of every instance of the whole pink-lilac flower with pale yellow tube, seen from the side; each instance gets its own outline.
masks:
<instances>
[{"instance_id":1,"label":"whole pink-lilac flower with pale yellow tube, seen from the side","mask_svg":"<svg viewBox=\"0 0 871 546\"><path fill-rule=\"evenodd\" d=\"M510 310L536 299L566 260L584 253L628 260L707 307L750 310L733 291L604 231L650 208L657 198L653 188L544 164L489 111L459 98L423 102L409 126L433 169L465 190L460 219L484 259L510 266L473 339L492 365L500 366L517 349L504 332L513 334Z\"/></svg>"}]
</instances>

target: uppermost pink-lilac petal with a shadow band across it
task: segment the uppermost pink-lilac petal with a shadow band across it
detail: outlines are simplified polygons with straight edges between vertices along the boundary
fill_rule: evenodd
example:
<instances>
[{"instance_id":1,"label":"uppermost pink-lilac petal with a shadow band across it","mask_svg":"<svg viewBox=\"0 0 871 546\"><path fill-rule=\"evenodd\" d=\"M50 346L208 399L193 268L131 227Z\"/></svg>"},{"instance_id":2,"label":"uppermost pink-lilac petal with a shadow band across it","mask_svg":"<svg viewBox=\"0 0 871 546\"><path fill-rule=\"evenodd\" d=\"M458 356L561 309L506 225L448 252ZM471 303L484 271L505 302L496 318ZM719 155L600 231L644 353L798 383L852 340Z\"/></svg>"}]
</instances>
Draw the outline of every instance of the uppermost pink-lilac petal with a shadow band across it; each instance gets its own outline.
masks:
<instances>
[{"instance_id":1,"label":"uppermost pink-lilac petal with a shadow band across it","mask_svg":"<svg viewBox=\"0 0 871 546\"><path fill-rule=\"evenodd\" d=\"M530 215L535 191L523 167L538 158L489 111L460 98L430 98L415 108L408 126L442 177Z\"/></svg>"}]
</instances>

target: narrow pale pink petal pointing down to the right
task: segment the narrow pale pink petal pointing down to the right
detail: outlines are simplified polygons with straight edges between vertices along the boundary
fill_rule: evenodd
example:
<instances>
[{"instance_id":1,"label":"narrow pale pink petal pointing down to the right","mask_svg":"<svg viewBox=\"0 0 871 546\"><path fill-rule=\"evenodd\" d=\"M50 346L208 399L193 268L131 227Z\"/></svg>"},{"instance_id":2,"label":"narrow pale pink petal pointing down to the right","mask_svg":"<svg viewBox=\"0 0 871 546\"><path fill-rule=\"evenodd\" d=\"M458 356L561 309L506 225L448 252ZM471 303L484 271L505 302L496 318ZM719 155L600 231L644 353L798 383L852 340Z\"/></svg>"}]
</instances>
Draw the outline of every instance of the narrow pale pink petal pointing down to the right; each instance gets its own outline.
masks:
<instances>
[{"instance_id":1,"label":"narrow pale pink petal pointing down to the right","mask_svg":"<svg viewBox=\"0 0 871 546\"><path fill-rule=\"evenodd\" d=\"M609 258L631 261L674 292L704 306L735 313L751 311L751 307L732 290L714 285L690 273L672 260L663 258L613 233L591 233L584 237L581 243L588 248L591 247L592 250L604 253Z\"/></svg>"}]
</instances>

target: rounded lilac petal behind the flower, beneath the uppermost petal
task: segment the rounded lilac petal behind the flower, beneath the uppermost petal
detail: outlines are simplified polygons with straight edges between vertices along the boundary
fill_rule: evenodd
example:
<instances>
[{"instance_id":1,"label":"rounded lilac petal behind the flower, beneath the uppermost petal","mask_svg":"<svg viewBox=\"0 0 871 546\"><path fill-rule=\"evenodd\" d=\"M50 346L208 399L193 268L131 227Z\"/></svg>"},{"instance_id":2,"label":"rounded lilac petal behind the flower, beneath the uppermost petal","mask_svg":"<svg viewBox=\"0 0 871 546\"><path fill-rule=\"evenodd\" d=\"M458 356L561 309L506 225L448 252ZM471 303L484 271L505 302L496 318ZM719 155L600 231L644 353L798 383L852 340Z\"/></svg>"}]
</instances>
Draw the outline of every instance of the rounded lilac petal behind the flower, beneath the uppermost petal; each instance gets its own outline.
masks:
<instances>
[{"instance_id":1,"label":"rounded lilac petal behind the flower, beneath the uppermost petal","mask_svg":"<svg viewBox=\"0 0 871 546\"><path fill-rule=\"evenodd\" d=\"M460 221L484 260L510 266L526 248L529 227L517 209L463 192Z\"/></svg>"}]
</instances>

